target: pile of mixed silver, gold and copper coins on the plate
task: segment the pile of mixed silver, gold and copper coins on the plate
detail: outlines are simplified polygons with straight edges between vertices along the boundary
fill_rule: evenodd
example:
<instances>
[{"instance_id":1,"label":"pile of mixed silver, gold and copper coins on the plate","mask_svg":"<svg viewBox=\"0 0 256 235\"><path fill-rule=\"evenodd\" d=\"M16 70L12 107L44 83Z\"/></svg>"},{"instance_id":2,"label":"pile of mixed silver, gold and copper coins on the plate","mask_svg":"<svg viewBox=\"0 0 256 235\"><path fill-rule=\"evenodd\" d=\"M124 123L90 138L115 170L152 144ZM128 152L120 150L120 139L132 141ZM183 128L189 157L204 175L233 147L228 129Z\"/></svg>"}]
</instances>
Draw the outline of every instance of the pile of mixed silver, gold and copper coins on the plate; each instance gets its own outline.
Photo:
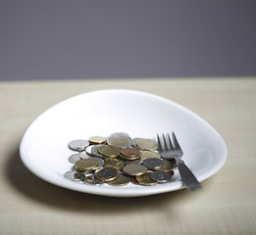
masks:
<instances>
[{"instance_id":1,"label":"pile of mixed silver, gold and copper coins on the plate","mask_svg":"<svg viewBox=\"0 0 256 235\"><path fill-rule=\"evenodd\" d=\"M157 153L155 140L132 139L127 133L73 140L69 148L77 153L69 157L74 165L64 176L85 184L155 185L171 182L176 167L174 161L164 160Z\"/></svg>"}]
</instances>

